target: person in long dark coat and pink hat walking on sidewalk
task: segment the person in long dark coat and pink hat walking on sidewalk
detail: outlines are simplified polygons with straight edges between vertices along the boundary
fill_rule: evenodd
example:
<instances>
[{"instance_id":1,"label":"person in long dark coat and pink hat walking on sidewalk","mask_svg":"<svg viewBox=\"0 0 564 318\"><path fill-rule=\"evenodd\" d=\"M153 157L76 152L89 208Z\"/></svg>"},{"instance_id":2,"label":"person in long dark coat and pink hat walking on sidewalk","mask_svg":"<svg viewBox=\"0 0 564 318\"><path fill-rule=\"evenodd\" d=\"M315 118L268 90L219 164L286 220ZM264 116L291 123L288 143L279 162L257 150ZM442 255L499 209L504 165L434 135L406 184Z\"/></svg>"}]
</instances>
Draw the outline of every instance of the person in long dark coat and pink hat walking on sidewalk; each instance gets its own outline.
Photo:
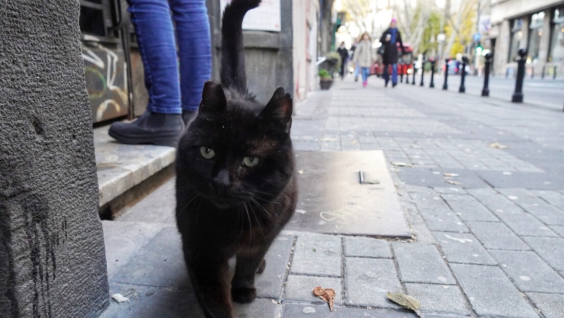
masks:
<instances>
[{"instance_id":1,"label":"person in long dark coat and pink hat walking on sidewalk","mask_svg":"<svg viewBox=\"0 0 564 318\"><path fill-rule=\"evenodd\" d=\"M396 20L391 19L390 27L382 33L380 42L384 46L384 54L382 54L382 64L384 64L384 80L387 86L390 81L388 67L391 65L391 85L394 87L398 84L398 48L402 50L402 54L406 54L403 47L402 34L396 28ZM398 47L399 43L399 47Z\"/></svg>"}]
</instances>

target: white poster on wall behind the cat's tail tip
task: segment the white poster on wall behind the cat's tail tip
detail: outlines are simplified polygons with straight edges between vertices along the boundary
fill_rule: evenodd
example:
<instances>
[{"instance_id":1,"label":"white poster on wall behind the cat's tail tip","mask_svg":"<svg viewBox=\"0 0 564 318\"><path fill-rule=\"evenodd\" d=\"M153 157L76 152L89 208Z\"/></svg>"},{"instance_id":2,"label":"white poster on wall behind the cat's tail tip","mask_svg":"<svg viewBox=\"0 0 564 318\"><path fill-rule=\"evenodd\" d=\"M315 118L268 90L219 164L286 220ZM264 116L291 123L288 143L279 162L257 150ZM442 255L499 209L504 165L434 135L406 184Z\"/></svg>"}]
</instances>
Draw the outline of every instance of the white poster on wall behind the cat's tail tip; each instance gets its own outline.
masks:
<instances>
[{"instance_id":1,"label":"white poster on wall behind the cat's tail tip","mask_svg":"<svg viewBox=\"0 0 564 318\"><path fill-rule=\"evenodd\" d=\"M223 9L231 0L220 0L220 16ZM244 30L276 31L280 32L280 0L262 0L258 8L250 10L243 20Z\"/></svg>"}]
</instances>

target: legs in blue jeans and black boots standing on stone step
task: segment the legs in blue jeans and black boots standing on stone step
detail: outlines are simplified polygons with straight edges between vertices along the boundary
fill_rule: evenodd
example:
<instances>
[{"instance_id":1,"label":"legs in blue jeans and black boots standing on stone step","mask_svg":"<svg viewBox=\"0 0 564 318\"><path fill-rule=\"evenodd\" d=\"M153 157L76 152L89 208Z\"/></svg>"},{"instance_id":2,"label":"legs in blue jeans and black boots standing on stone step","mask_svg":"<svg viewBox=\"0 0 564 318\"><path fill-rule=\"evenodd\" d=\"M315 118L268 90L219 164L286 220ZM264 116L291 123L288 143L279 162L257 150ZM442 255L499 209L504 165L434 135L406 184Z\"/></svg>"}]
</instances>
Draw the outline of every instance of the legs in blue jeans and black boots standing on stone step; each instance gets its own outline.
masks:
<instances>
[{"instance_id":1,"label":"legs in blue jeans and black boots standing on stone step","mask_svg":"<svg viewBox=\"0 0 564 318\"><path fill-rule=\"evenodd\" d=\"M211 77L206 2L129 0L129 5L149 101L136 121L113 123L109 135L121 143L175 146L184 125L196 117L204 82Z\"/></svg>"}]
</instances>

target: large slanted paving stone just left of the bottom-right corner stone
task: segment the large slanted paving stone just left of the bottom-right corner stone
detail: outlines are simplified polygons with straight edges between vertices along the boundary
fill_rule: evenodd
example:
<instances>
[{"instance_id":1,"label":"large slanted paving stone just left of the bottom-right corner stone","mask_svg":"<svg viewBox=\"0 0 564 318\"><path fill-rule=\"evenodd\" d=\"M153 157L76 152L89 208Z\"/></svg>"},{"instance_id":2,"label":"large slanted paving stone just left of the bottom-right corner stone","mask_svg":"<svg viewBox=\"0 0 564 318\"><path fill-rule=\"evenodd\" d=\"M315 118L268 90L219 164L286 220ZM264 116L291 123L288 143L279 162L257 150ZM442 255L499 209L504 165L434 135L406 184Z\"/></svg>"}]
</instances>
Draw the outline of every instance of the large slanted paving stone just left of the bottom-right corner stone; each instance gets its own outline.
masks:
<instances>
[{"instance_id":1,"label":"large slanted paving stone just left of the bottom-right corner stone","mask_svg":"<svg viewBox=\"0 0 564 318\"><path fill-rule=\"evenodd\" d=\"M538 317L499 267L451 264L451 268L479 316Z\"/></svg>"}]
</instances>

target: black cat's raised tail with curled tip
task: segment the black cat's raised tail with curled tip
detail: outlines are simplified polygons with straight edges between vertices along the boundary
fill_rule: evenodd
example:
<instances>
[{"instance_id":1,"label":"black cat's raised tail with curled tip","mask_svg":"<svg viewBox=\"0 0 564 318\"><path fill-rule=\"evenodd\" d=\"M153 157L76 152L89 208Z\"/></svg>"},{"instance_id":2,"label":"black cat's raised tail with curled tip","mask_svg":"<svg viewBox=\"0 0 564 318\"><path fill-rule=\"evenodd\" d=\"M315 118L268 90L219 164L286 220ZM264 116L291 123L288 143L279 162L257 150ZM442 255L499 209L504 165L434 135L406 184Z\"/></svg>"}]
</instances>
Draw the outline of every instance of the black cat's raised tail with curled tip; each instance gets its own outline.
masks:
<instances>
[{"instance_id":1,"label":"black cat's raised tail with curled tip","mask_svg":"<svg viewBox=\"0 0 564 318\"><path fill-rule=\"evenodd\" d=\"M233 0L225 7L221 26L221 84L245 94L246 74L243 51L243 18L261 0Z\"/></svg>"}]
</instances>

